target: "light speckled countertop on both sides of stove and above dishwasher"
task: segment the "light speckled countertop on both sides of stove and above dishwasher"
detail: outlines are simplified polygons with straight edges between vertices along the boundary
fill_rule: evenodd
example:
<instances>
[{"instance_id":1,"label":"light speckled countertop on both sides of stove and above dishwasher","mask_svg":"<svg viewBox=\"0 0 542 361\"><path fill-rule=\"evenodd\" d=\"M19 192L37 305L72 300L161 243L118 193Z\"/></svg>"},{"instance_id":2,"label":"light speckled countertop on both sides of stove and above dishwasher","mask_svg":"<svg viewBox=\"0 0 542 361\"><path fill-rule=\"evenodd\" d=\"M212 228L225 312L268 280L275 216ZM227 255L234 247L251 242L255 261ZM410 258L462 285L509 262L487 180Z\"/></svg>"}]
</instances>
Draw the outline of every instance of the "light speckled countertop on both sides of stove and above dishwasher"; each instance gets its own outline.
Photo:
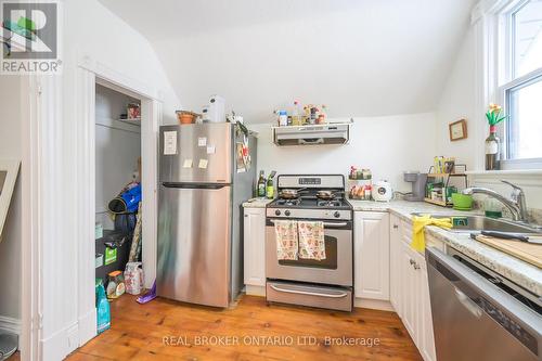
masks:
<instances>
[{"instance_id":1,"label":"light speckled countertop on both sides of stove and above dishwasher","mask_svg":"<svg viewBox=\"0 0 542 361\"><path fill-rule=\"evenodd\" d=\"M264 208L271 199L254 198L251 202L243 203L248 208ZM473 215L476 211L457 211L451 208L435 206L425 202L372 202L349 201L353 210L362 211L388 211L404 220L412 220L412 212L430 212L446 215ZM529 289L542 297L542 269L531 266L515 257L508 256L498 249L481 244L470 238L468 233L449 232L438 227L427 227L426 234L434 236L453 248L462 252L468 257L477 260L487 268L502 274L514 283Z\"/></svg>"}]
</instances>

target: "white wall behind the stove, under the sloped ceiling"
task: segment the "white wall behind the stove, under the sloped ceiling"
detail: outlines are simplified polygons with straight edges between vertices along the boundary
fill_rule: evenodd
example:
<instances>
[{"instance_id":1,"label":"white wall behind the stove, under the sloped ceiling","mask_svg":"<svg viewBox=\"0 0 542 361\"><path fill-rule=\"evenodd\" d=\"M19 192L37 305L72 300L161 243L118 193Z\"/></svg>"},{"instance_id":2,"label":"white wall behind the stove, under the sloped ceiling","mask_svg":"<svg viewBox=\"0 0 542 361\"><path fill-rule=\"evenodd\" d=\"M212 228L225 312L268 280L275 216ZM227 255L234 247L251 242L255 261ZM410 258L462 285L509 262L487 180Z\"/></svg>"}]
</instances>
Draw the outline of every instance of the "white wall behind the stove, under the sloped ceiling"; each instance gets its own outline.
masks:
<instances>
[{"instance_id":1,"label":"white wall behind the stove, under the sloped ceiling","mask_svg":"<svg viewBox=\"0 0 542 361\"><path fill-rule=\"evenodd\" d=\"M427 171L437 151L433 113L357 117L347 145L276 146L270 124L248 127L259 133L257 167L266 173L346 176L353 165L370 168L374 180L386 179L398 191L411 191L403 170Z\"/></svg>"}]
</instances>

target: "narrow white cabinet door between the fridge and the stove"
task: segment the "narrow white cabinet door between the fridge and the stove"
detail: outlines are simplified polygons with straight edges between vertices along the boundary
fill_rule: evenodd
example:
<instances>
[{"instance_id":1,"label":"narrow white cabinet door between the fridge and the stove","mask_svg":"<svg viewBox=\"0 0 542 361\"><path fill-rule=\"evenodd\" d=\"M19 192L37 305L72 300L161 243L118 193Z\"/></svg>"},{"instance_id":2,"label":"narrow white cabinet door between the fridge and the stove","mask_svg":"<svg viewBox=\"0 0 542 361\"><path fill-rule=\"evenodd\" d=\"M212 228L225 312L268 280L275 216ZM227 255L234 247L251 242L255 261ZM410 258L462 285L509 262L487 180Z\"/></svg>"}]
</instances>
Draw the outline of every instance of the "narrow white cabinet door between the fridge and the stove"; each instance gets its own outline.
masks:
<instances>
[{"instance_id":1,"label":"narrow white cabinet door between the fridge and the stove","mask_svg":"<svg viewBox=\"0 0 542 361\"><path fill-rule=\"evenodd\" d=\"M244 208L245 284L266 285L266 208Z\"/></svg>"}]
</instances>

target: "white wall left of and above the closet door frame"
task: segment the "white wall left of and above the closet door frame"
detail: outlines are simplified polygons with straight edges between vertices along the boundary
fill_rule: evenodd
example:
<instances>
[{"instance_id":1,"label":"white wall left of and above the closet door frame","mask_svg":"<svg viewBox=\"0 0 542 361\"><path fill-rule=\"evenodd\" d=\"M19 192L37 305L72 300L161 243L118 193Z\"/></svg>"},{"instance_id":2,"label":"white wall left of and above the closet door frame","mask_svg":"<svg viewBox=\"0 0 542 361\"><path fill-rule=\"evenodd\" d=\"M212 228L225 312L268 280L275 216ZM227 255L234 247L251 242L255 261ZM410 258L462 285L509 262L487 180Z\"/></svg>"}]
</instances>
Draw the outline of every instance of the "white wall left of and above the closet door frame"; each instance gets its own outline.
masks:
<instances>
[{"instance_id":1,"label":"white wall left of and above the closet door frame","mask_svg":"<svg viewBox=\"0 0 542 361\"><path fill-rule=\"evenodd\" d=\"M78 307L78 243L82 214L75 201L80 185L74 182L74 175L81 173L80 164L85 156L76 143L82 137L83 121L76 108L77 96L85 89L77 76L79 61L86 59L91 65L115 73L131 82L145 88L155 88L164 100L165 117L172 119L179 100L163 70L162 64L149 41L126 23L103 8L95 0L65 0L63 31L63 75L59 93L52 96L60 114L48 119L43 147L49 159L56 159L53 169L44 169L42 194L43 265L42 265L42 312L43 330L40 334L44 360L59 360L76 349L79 337L86 339L88 325L94 321L91 309ZM46 130L43 131L46 132ZM54 138L51 138L54 137ZM54 144L49 144L54 139ZM77 150L77 152L74 152ZM93 255L89 255L92 257ZM67 297L66 295L72 295ZM82 330L82 331L81 331Z\"/></svg>"}]
</instances>

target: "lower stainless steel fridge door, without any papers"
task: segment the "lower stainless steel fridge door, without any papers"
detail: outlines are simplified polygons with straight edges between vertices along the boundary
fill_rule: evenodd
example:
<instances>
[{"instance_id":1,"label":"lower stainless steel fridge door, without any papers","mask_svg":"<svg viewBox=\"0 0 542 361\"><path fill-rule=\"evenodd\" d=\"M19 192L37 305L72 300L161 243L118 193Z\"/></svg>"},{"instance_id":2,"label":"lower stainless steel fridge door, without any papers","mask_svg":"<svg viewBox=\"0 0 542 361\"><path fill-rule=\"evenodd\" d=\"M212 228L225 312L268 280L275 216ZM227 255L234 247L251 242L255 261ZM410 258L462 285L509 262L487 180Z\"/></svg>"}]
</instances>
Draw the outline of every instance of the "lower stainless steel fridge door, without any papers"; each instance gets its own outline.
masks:
<instances>
[{"instance_id":1,"label":"lower stainless steel fridge door, without any papers","mask_svg":"<svg viewBox=\"0 0 542 361\"><path fill-rule=\"evenodd\" d=\"M180 301L228 307L231 188L160 185L157 292Z\"/></svg>"}]
</instances>

